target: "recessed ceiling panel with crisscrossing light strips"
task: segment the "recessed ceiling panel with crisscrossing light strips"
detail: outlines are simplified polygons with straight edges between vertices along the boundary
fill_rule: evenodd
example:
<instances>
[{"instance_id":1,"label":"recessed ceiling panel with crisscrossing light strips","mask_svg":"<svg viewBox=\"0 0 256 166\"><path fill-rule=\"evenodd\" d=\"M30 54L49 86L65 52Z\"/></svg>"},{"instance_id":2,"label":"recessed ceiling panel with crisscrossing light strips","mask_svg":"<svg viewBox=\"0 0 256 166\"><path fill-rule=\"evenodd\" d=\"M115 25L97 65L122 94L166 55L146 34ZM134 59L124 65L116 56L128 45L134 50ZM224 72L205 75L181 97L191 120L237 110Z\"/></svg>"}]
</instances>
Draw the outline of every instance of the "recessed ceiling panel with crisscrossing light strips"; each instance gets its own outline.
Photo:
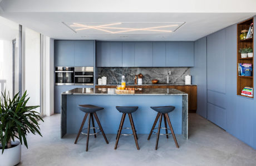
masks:
<instances>
[{"instance_id":1,"label":"recessed ceiling panel with crisscrossing light strips","mask_svg":"<svg viewBox=\"0 0 256 166\"><path fill-rule=\"evenodd\" d=\"M173 33L185 22L165 23L71 23L63 22L78 34L141 34L141 33Z\"/></svg>"}]
</instances>

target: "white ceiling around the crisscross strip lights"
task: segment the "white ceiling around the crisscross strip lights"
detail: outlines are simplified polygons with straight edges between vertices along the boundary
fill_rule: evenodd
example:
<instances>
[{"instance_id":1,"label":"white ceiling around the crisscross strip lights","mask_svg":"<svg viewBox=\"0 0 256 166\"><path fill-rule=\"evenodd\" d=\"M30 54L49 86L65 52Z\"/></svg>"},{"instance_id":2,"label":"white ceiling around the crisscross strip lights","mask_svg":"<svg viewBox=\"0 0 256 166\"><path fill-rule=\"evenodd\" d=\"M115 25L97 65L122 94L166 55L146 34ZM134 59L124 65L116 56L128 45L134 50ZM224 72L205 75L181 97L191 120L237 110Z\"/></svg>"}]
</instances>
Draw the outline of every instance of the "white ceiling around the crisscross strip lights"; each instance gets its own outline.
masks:
<instances>
[{"instance_id":1,"label":"white ceiling around the crisscross strip lights","mask_svg":"<svg viewBox=\"0 0 256 166\"><path fill-rule=\"evenodd\" d=\"M194 41L256 15L256 1L244 0L243 4L250 4L246 10L240 7L240 1L235 1L215 0L206 4L203 0L0 0L0 15L54 39ZM185 24L178 30L172 29L175 32L161 33L106 33L99 29L75 33L70 27L73 23L90 26L121 23L125 28L149 28L173 22Z\"/></svg>"}]
</instances>

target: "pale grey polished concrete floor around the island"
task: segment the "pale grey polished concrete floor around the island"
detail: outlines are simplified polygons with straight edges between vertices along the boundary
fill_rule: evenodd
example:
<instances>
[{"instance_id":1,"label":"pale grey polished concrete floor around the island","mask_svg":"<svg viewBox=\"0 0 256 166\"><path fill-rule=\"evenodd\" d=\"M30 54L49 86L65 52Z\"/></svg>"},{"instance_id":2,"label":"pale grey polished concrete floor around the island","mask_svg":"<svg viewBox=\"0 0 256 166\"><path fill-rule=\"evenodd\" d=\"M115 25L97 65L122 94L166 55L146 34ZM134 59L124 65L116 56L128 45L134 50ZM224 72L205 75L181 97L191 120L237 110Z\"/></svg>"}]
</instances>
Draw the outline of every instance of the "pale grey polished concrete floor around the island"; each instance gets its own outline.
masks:
<instances>
[{"instance_id":1,"label":"pale grey polished concrete floor around the island","mask_svg":"<svg viewBox=\"0 0 256 166\"><path fill-rule=\"evenodd\" d=\"M189 114L189 139L176 135L178 149L172 137L160 136L157 151L155 135L147 141L147 135L139 134L139 151L132 136L121 136L115 151L116 136L107 134L106 144L99 134L90 137L86 152L86 136L77 144L75 135L60 138L60 115L43 119L43 137L28 135L19 165L256 165L253 148L195 113Z\"/></svg>"}]
</instances>

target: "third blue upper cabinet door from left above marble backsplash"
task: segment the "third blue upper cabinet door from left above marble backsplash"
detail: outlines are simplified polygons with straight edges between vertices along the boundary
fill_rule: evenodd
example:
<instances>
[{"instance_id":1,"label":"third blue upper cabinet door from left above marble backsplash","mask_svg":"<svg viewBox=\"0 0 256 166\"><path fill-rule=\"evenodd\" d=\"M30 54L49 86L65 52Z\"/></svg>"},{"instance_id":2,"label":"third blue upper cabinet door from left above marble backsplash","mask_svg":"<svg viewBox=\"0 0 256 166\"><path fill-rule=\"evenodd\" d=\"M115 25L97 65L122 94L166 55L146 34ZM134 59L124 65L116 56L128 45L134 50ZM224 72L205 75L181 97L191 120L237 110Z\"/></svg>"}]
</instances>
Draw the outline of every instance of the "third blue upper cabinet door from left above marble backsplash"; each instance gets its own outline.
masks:
<instances>
[{"instance_id":1,"label":"third blue upper cabinet door from left above marble backsplash","mask_svg":"<svg viewBox=\"0 0 256 166\"><path fill-rule=\"evenodd\" d=\"M122 43L122 66L134 67L134 43L123 42Z\"/></svg>"}]
</instances>

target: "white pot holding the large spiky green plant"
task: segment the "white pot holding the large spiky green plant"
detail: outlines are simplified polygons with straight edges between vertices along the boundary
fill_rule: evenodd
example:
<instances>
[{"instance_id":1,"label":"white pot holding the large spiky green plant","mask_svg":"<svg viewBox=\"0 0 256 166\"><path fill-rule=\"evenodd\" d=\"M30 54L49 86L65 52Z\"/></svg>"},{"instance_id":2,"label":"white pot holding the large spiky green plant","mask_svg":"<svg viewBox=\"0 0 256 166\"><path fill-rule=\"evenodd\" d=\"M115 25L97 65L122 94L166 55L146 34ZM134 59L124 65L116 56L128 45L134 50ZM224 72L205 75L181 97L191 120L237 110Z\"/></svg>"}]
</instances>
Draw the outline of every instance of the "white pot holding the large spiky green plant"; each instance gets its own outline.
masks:
<instances>
[{"instance_id":1,"label":"white pot holding the large spiky green plant","mask_svg":"<svg viewBox=\"0 0 256 166\"><path fill-rule=\"evenodd\" d=\"M4 149L2 154L2 144L0 144L0 166L17 165L21 162L21 143L12 141L12 148Z\"/></svg>"}]
</instances>

